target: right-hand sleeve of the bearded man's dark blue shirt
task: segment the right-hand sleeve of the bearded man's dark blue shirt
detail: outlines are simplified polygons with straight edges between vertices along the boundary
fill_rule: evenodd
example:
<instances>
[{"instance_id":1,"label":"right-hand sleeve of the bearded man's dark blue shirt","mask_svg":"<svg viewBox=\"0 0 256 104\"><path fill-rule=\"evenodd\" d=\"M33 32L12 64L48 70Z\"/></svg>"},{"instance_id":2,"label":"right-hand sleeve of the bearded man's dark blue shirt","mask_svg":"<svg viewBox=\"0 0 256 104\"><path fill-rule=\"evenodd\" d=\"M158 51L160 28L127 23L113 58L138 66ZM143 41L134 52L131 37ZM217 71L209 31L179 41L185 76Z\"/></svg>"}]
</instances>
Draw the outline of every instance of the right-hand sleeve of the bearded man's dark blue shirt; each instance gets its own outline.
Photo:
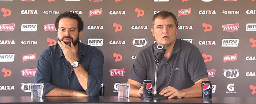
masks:
<instances>
[{"instance_id":1,"label":"right-hand sleeve of the bearded man's dark blue shirt","mask_svg":"<svg viewBox=\"0 0 256 104\"><path fill-rule=\"evenodd\" d=\"M104 55L102 54L102 52L100 54L97 54L95 57L92 57L90 67L88 69L88 87L85 90L86 93L89 94L89 96L98 95L103 76L103 64Z\"/></svg>"}]
</instances>

